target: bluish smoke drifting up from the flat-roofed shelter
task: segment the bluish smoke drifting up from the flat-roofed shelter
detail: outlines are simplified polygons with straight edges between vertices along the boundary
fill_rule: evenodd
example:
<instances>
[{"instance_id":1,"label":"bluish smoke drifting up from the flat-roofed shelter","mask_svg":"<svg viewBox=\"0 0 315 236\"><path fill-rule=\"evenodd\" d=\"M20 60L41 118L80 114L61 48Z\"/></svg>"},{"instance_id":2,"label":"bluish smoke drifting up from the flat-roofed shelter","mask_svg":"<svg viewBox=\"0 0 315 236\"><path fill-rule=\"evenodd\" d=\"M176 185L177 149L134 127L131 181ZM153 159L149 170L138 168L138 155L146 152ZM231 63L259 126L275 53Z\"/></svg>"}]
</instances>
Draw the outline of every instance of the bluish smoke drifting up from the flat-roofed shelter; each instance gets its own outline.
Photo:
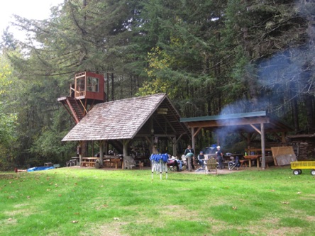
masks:
<instances>
[{"instance_id":1,"label":"bluish smoke drifting up from the flat-roofed shelter","mask_svg":"<svg viewBox=\"0 0 315 236\"><path fill-rule=\"evenodd\" d=\"M255 64L253 77L258 78L257 99L240 99L225 106L219 120L223 128L216 130L219 137L227 137L235 133L236 127L224 119L225 115L248 113L253 111L267 111L279 118L288 116L292 111L292 101L302 99L304 94L315 95L315 3L314 0L296 1L295 9L299 16L307 22L303 45L291 47L278 52L272 57L259 60ZM304 36L305 37L305 36ZM249 67L253 68L253 67ZM240 118L241 119L241 118ZM287 121L287 120L286 120ZM253 131L253 128L243 127L244 131ZM221 145L224 145L221 143Z\"/></svg>"}]
</instances>

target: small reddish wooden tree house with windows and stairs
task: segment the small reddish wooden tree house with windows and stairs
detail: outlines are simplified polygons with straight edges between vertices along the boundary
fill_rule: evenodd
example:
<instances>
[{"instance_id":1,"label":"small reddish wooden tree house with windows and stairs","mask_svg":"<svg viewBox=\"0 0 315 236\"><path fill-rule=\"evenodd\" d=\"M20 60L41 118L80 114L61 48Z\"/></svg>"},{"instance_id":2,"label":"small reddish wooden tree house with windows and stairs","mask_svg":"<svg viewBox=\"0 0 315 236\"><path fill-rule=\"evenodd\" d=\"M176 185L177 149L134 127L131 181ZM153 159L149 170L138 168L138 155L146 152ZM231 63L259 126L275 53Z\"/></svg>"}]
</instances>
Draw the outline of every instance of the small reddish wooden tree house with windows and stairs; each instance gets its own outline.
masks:
<instances>
[{"instance_id":1,"label":"small reddish wooden tree house with windows and stairs","mask_svg":"<svg viewBox=\"0 0 315 236\"><path fill-rule=\"evenodd\" d=\"M70 85L70 96L58 99L70 113L75 123L87 114L97 103L106 101L104 76L93 72L75 74L74 84Z\"/></svg>"}]
</instances>

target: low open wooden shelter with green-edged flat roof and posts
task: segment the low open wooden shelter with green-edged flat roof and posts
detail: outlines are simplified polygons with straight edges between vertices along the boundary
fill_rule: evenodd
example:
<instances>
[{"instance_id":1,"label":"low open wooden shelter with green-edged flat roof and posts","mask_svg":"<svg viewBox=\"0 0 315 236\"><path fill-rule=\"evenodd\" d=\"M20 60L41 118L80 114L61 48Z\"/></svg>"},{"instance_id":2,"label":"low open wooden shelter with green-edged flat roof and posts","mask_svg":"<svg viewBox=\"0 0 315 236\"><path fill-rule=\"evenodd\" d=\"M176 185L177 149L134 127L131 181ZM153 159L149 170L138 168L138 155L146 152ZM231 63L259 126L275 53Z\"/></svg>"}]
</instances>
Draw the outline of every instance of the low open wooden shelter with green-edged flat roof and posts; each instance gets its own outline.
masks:
<instances>
[{"instance_id":1,"label":"low open wooden shelter with green-edged flat roof and posts","mask_svg":"<svg viewBox=\"0 0 315 236\"><path fill-rule=\"evenodd\" d=\"M260 135L262 169L265 169L265 133L277 135L284 145L286 142L286 133L292 131L289 125L286 125L279 118L267 114L266 111L181 118L180 121L187 124L191 130L193 148L194 138L201 129L210 130L214 133L219 133L222 129L224 129L224 132L240 133L243 138L247 140L249 150L251 140L253 140L256 135ZM220 144L220 140L217 140L217 142Z\"/></svg>"}]
</instances>

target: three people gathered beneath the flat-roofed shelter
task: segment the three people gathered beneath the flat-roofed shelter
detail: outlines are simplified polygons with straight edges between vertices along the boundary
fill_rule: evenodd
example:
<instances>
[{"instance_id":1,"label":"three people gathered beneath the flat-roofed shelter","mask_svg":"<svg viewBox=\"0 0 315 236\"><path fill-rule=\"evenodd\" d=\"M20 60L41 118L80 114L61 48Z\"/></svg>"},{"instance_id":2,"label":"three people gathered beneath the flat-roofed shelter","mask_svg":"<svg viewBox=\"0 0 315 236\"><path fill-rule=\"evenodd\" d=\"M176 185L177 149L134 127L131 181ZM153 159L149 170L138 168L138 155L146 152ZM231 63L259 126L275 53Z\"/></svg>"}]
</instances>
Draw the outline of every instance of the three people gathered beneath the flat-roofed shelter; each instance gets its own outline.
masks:
<instances>
[{"instance_id":1,"label":"three people gathered beneath the flat-roofed shelter","mask_svg":"<svg viewBox=\"0 0 315 236\"><path fill-rule=\"evenodd\" d=\"M219 169L223 169L223 152L221 151L221 147L217 146L216 147L216 159L218 160L219 163ZM192 169L194 169L194 149L192 149L192 146L188 145L187 149L184 152L184 156L186 157L187 160L187 168L189 172L192 172ZM200 151L197 160L199 164L201 165L202 168L204 168L204 161L206 160L204 156L204 152Z\"/></svg>"}]
</instances>

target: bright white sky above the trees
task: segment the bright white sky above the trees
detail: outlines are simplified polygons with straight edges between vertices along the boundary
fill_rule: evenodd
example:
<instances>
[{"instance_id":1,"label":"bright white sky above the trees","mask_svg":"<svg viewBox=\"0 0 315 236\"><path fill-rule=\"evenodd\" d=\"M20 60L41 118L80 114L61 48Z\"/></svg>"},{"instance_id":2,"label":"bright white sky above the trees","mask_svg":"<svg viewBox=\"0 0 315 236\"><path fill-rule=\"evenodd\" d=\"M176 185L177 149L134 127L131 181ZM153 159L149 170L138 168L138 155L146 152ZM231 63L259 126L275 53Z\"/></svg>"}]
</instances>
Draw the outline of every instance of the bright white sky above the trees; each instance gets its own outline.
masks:
<instances>
[{"instance_id":1,"label":"bright white sky above the trees","mask_svg":"<svg viewBox=\"0 0 315 236\"><path fill-rule=\"evenodd\" d=\"M0 34L13 21L13 14L29 19L43 20L50 16L50 7L57 6L63 0L1 0L0 6ZM10 32L15 37L18 33L10 26Z\"/></svg>"}]
</instances>

